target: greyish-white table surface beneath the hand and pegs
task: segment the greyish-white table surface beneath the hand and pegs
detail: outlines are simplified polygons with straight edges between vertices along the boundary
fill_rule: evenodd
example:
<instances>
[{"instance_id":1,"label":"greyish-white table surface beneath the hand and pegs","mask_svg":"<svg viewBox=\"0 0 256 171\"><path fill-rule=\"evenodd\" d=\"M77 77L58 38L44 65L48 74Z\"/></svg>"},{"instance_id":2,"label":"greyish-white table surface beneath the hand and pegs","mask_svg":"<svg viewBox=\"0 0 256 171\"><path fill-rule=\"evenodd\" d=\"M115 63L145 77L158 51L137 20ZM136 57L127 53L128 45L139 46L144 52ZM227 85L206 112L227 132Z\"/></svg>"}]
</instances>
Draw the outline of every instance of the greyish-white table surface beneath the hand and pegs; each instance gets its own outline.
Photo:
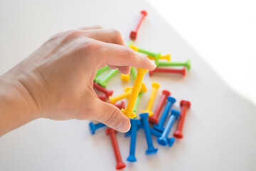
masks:
<instances>
[{"instance_id":1,"label":"greyish-white table surface beneath the hand and pegs","mask_svg":"<svg viewBox=\"0 0 256 171\"><path fill-rule=\"evenodd\" d=\"M117 134L124 170L256 170L256 108L221 80L176 31L146 1L1 1L0 73L26 58L54 33L100 24L119 29L126 41L139 12L148 11L136 45L171 53L173 61L191 58L186 77L147 74L148 92L139 110L146 108L151 81L161 83L177 101L191 101L184 138L174 146L145 155L146 139L137 135L137 162L128 163L129 138ZM171 10L171 6L170 6ZM175 16L174 16L175 17ZM116 76L107 85L114 95L125 86ZM159 91L160 92L160 91ZM161 93L156 96L159 100ZM155 108L156 104L154 105ZM178 103L174 105L178 109ZM170 134L172 135L172 134ZM110 138L105 130L90 135L88 121L38 119L0 138L0 170L114 170Z\"/></svg>"}]
</instances>

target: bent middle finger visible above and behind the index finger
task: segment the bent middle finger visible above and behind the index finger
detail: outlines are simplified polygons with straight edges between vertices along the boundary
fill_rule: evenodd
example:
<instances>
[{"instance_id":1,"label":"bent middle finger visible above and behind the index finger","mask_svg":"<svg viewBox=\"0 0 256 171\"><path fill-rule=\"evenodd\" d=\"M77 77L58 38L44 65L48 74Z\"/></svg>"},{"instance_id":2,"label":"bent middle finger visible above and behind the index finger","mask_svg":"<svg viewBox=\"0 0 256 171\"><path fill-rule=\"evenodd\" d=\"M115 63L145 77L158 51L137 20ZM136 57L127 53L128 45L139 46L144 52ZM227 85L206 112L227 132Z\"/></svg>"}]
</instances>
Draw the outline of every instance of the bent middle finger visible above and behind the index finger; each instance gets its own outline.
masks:
<instances>
[{"instance_id":1,"label":"bent middle finger visible above and behind the index finger","mask_svg":"<svg viewBox=\"0 0 256 171\"><path fill-rule=\"evenodd\" d=\"M114 43L119 45L126 45L122 34L116 29L112 28L99 28L99 29L90 29L85 31L85 36L88 38L93 38L97 41L103 41L105 43Z\"/></svg>"}]
</instances>

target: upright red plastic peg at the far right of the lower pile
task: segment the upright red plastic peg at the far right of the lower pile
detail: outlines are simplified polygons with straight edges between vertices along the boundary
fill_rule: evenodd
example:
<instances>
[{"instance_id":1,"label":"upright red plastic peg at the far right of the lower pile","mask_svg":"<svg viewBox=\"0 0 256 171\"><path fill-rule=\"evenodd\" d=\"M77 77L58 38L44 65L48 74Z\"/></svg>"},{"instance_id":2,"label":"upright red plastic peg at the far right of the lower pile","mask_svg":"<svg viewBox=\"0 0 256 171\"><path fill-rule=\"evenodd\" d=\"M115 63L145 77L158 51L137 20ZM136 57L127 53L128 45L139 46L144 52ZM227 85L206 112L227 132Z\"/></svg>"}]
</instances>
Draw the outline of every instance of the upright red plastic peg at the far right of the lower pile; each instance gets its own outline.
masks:
<instances>
[{"instance_id":1,"label":"upright red plastic peg at the far right of the lower pile","mask_svg":"<svg viewBox=\"0 0 256 171\"><path fill-rule=\"evenodd\" d=\"M191 107L191 103L186 100L181 100L180 106L181 106L181 115L178 120L177 129L174 133L175 138L183 138L183 134L182 134L183 123L186 117L186 111Z\"/></svg>"}]
</instances>

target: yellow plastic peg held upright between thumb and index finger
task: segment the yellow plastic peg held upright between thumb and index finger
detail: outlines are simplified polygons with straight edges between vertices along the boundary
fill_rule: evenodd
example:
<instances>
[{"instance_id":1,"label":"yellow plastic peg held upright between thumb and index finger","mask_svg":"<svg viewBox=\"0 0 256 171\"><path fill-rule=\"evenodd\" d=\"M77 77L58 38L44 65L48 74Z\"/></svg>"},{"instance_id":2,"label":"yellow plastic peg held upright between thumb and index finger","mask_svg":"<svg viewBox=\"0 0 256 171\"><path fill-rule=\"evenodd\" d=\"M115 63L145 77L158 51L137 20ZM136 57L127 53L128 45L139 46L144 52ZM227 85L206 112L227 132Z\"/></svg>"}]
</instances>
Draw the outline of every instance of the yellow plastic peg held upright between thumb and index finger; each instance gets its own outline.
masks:
<instances>
[{"instance_id":1,"label":"yellow plastic peg held upright between thumb and index finger","mask_svg":"<svg viewBox=\"0 0 256 171\"><path fill-rule=\"evenodd\" d=\"M137 76L134 81L134 86L132 87L132 93L129 96L128 104L125 109L122 109L121 111L124 113L124 115L127 115L128 118L135 118L136 113L134 113L134 105L137 100L137 96L139 95L139 90L142 87L142 80L144 78L144 75L149 70L144 68L137 68Z\"/></svg>"}]
</instances>

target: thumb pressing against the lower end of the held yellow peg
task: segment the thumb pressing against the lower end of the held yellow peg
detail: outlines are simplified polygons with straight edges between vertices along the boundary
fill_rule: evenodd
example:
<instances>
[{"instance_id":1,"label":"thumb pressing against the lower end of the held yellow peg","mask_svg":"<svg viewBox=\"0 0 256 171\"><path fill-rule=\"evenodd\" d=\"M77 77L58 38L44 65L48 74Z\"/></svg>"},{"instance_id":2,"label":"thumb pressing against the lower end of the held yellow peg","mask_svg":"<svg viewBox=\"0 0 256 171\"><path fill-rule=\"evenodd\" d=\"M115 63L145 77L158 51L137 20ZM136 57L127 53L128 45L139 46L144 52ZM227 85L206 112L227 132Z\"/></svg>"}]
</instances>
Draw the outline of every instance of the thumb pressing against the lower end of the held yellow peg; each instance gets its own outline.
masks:
<instances>
[{"instance_id":1,"label":"thumb pressing against the lower end of the held yellow peg","mask_svg":"<svg viewBox=\"0 0 256 171\"><path fill-rule=\"evenodd\" d=\"M129 130L131 127L130 120L119 108L110 103L105 103L100 99L95 101L97 101L95 120L122 133L126 133Z\"/></svg>"}]
</instances>

